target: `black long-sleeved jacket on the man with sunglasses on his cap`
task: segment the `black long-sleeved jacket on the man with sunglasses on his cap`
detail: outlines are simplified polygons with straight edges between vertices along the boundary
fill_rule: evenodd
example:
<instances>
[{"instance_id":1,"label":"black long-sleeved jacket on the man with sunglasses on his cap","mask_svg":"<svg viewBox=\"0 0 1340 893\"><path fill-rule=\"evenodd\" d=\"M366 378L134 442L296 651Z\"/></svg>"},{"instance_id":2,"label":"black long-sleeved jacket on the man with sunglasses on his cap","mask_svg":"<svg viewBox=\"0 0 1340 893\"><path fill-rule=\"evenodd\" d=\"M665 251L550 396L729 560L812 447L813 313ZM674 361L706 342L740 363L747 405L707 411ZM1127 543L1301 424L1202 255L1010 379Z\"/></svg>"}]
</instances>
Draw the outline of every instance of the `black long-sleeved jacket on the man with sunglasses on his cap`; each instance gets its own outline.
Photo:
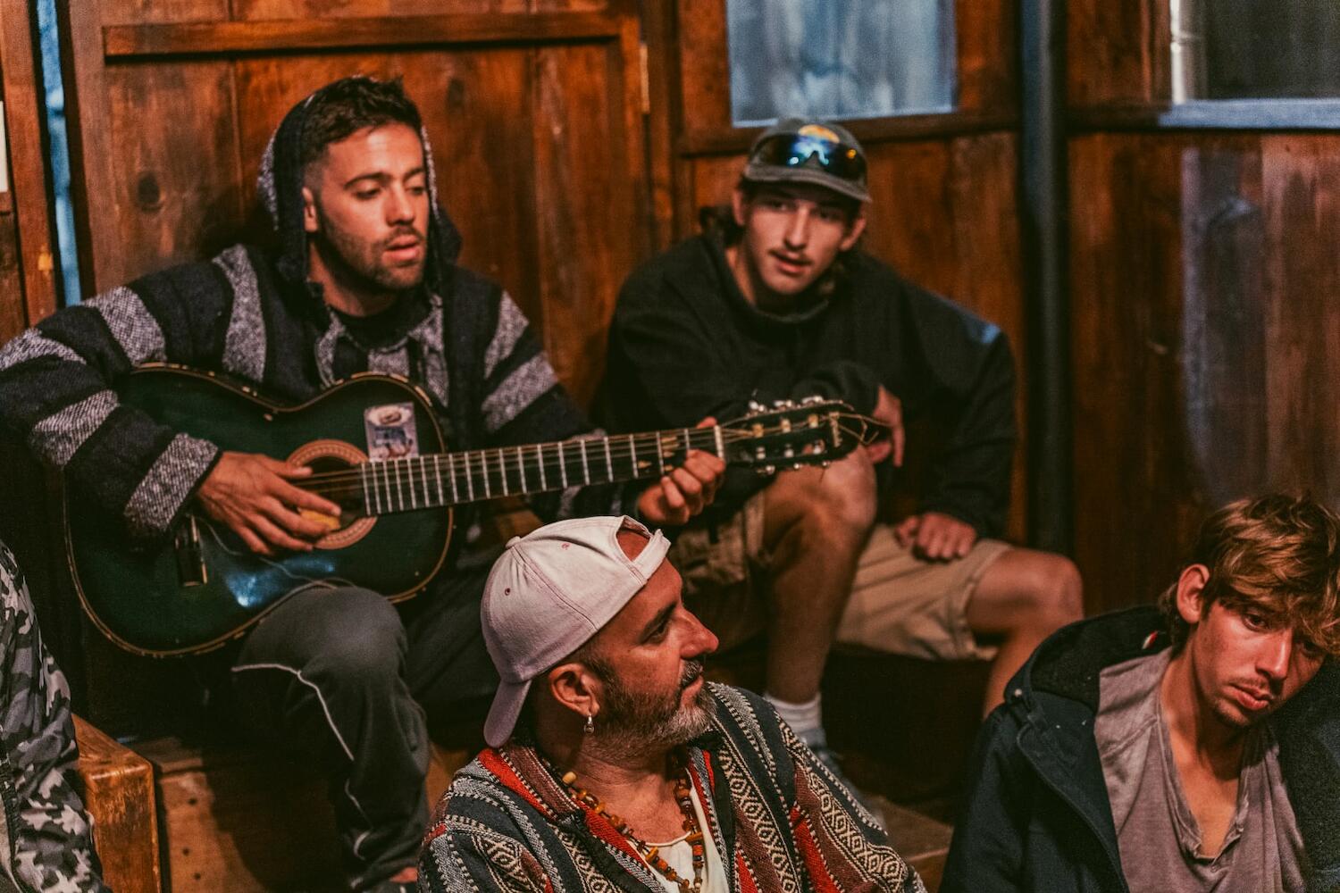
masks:
<instances>
[{"instance_id":1,"label":"black long-sleeved jacket on the man with sunglasses on his cap","mask_svg":"<svg viewBox=\"0 0 1340 893\"><path fill-rule=\"evenodd\" d=\"M606 378L608 427L725 422L749 400L820 394L860 412L883 384L913 419L951 434L925 489L943 511L998 536L1014 450L1014 367L1005 335L863 252L825 300L779 316L749 304L721 242L699 236L639 268L619 295ZM733 511L766 483L732 470L713 509Z\"/></svg>"}]
</instances>

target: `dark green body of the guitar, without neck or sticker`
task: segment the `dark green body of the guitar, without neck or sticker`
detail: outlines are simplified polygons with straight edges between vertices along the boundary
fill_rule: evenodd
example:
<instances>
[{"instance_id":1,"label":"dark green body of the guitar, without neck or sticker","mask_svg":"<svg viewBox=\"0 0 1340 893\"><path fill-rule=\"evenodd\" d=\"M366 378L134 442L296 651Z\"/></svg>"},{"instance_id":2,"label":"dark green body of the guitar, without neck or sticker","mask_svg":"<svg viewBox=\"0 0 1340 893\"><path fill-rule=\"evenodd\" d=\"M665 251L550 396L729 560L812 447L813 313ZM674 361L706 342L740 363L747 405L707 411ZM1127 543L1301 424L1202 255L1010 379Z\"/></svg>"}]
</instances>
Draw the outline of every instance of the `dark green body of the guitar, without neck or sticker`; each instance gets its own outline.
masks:
<instances>
[{"instance_id":1,"label":"dark green body of the guitar, without neck or sticker","mask_svg":"<svg viewBox=\"0 0 1340 893\"><path fill-rule=\"evenodd\" d=\"M364 411L374 407L410 404L418 451L446 447L427 398L382 375L355 376L302 406L277 407L212 375L158 366L131 374L119 396L224 450L292 458L318 473L366 462ZM217 648L318 581L356 581L393 601L409 598L442 566L450 536L449 507L379 517L351 510L312 552L265 557L188 510L166 541L145 548L121 518L66 489L66 545L84 609L119 645L151 656Z\"/></svg>"}]
</instances>

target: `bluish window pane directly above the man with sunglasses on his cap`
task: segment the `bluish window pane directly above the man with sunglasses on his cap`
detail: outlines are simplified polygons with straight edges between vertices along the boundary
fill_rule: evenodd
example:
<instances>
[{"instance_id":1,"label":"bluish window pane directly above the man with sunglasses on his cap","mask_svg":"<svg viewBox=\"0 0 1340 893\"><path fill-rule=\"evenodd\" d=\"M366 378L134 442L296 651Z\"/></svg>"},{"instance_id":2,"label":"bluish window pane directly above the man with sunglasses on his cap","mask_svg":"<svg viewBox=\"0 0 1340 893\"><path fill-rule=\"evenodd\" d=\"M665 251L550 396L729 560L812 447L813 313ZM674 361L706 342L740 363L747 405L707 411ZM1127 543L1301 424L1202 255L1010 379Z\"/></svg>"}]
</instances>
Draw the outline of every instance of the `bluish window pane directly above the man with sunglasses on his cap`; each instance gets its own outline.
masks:
<instances>
[{"instance_id":1,"label":"bluish window pane directly above the man with sunglasses on his cap","mask_svg":"<svg viewBox=\"0 0 1340 893\"><path fill-rule=\"evenodd\" d=\"M726 0L726 24L737 126L954 107L953 0Z\"/></svg>"}]
</instances>

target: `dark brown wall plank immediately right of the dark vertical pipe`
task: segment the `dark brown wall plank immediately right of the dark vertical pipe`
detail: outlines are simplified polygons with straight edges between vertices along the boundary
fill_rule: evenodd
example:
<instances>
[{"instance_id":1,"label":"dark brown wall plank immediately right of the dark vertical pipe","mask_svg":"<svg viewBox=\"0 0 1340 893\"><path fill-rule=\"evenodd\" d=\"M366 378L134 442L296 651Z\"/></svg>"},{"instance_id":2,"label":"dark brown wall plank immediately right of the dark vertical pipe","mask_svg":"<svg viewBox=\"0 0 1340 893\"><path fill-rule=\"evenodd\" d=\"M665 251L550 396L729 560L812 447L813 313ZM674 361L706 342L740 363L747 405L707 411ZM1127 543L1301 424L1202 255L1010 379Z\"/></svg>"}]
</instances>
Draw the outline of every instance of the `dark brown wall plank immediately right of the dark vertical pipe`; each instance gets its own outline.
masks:
<instances>
[{"instance_id":1,"label":"dark brown wall plank immediately right of the dark vertical pipe","mask_svg":"<svg viewBox=\"0 0 1340 893\"><path fill-rule=\"evenodd\" d=\"M1186 495L1179 451L1185 150L1172 138L1071 143L1071 194L1084 197L1071 212L1071 353L1088 613L1154 598L1203 511Z\"/></svg>"}]
</instances>

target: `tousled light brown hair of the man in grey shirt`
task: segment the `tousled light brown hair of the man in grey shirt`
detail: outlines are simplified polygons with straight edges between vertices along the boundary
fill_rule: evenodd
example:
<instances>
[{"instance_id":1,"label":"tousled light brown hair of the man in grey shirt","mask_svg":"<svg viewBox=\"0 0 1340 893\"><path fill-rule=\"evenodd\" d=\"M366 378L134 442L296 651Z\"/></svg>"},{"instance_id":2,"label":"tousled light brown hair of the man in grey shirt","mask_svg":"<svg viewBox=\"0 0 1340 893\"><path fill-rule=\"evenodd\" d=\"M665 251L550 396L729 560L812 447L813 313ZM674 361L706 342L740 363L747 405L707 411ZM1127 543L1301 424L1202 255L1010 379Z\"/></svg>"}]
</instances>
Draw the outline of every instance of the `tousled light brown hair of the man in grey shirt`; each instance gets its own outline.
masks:
<instances>
[{"instance_id":1,"label":"tousled light brown hair of the man in grey shirt","mask_svg":"<svg viewBox=\"0 0 1340 893\"><path fill-rule=\"evenodd\" d=\"M1340 518L1320 502L1284 493L1231 502L1201 525L1190 558L1210 570L1202 617L1217 601L1256 611L1340 655ZM1159 606L1181 649L1191 625L1178 613L1177 588L1163 592Z\"/></svg>"}]
</instances>

